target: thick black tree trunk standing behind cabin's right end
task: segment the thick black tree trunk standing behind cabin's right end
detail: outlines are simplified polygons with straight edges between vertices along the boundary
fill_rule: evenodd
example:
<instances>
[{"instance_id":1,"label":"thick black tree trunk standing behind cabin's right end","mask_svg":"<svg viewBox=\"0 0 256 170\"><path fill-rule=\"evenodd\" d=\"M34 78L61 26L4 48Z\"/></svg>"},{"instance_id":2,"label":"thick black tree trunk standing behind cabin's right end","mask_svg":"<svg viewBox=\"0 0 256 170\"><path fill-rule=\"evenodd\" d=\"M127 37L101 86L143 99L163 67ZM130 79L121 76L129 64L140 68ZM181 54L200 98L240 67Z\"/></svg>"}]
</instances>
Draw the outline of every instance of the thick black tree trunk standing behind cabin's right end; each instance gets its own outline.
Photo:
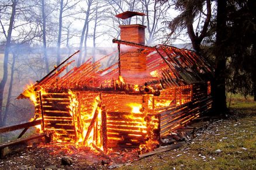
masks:
<instances>
[{"instance_id":1,"label":"thick black tree trunk standing behind cabin's right end","mask_svg":"<svg viewBox=\"0 0 256 170\"><path fill-rule=\"evenodd\" d=\"M227 112L226 104L226 20L227 20L227 0L217 1L217 25L216 25L216 43L215 43L215 80L213 82L213 108L215 114L223 114Z\"/></svg>"}]
</instances>

